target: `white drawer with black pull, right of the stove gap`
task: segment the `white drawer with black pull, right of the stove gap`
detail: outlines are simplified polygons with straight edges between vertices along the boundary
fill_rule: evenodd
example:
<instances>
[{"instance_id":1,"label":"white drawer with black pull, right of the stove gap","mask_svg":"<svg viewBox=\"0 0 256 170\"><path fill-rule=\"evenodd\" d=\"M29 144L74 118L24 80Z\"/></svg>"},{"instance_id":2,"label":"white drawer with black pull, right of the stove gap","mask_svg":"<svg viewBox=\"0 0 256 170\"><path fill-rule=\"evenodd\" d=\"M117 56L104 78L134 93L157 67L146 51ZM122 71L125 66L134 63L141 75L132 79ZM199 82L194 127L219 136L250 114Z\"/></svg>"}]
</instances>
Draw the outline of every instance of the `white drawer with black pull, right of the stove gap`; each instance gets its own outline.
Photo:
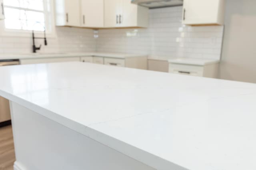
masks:
<instances>
[{"instance_id":1,"label":"white drawer with black pull, right of the stove gap","mask_svg":"<svg viewBox=\"0 0 256 170\"><path fill-rule=\"evenodd\" d=\"M203 76L204 67L199 65L169 64L169 73Z\"/></svg>"}]
</instances>

